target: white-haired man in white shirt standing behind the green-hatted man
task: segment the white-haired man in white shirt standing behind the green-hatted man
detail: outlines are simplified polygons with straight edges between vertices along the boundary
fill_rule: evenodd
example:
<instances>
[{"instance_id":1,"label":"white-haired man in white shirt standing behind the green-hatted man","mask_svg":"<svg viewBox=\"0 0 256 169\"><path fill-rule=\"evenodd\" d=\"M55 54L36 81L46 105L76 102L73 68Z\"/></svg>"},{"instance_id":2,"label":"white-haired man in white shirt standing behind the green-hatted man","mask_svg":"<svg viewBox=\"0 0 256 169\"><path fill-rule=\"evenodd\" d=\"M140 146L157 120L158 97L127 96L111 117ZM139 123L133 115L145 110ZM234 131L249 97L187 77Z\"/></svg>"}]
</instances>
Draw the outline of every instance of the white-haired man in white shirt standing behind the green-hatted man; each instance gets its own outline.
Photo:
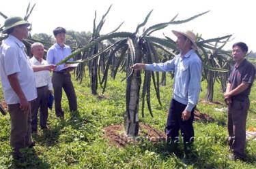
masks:
<instances>
[{"instance_id":1,"label":"white-haired man in white shirt standing behind the green-hatted man","mask_svg":"<svg viewBox=\"0 0 256 169\"><path fill-rule=\"evenodd\" d=\"M35 42L31 45L31 53L33 57L30 59L32 65L47 65L48 62L44 60L44 45ZM53 92L53 83L51 82L50 71L34 72L35 87L38 92L38 98L31 102L31 129L32 132L38 131L38 110L40 108L40 127L47 129L48 119L48 96L49 92Z\"/></svg>"}]
</instances>

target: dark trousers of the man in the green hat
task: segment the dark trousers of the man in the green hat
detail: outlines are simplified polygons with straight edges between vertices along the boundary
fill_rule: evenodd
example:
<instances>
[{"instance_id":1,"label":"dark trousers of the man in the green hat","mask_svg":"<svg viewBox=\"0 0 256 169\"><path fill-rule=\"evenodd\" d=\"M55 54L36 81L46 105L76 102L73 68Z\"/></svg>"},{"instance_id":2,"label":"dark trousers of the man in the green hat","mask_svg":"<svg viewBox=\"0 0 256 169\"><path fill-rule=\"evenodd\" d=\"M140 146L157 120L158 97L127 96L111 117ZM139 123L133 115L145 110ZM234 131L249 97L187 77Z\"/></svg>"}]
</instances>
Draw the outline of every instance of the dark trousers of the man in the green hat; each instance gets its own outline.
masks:
<instances>
[{"instance_id":1,"label":"dark trousers of the man in the green hat","mask_svg":"<svg viewBox=\"0 0 256 169\"><path fill-rule=\"evenodd\" d=\"M14 153L19 153L20 149L31 145L31 106L29 110L22 111L20 104L8 105L11 117L10 145Z\"/></svg>"}]
</instances>

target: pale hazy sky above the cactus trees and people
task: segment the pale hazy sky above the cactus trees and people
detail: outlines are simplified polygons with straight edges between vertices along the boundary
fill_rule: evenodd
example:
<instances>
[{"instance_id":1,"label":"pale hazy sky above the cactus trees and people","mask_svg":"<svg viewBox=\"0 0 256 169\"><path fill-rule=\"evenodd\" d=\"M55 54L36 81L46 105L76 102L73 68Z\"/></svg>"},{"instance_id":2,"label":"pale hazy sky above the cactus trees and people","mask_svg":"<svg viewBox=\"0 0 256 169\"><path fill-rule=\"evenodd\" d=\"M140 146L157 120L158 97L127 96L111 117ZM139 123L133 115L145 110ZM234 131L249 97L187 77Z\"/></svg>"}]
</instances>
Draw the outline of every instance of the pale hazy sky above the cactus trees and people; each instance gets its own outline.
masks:
<instances>
[{"instance_id":1,"label":"pale hazy sky above the cactus trees and people","mask_svg":"<svg viewBox=\"0 0 256 169\"><path fill-rule=\"evenodd\" d=\"M101 34L110 33L119 24L124 24L119 31L134 32L137 25L143 22L145 16L153 10L146 28L153 24L168 22L176 14L176 20L184 20L210 10L208 14L200 16L190 22L170 25L154 33L163 37L163 33L175 40L171 30L193 30L204 39L232 35L232 39L225 46L231 50L233 43L244 41L249 50L256 52L255 42L255 10L253 0L0 0L0 12L6 16L25 16L27 5L36 3L29 17L32 23L31 34L47 33L52 35L53 29L63 26L67 30L92 31L94 13L97 12L97 23L106 12L109 5L113 5L106 16L106 22ZM1 26L4 19L0 16ZM141 30L142 31L142 30Z\"/></svg>"}]
</instances>

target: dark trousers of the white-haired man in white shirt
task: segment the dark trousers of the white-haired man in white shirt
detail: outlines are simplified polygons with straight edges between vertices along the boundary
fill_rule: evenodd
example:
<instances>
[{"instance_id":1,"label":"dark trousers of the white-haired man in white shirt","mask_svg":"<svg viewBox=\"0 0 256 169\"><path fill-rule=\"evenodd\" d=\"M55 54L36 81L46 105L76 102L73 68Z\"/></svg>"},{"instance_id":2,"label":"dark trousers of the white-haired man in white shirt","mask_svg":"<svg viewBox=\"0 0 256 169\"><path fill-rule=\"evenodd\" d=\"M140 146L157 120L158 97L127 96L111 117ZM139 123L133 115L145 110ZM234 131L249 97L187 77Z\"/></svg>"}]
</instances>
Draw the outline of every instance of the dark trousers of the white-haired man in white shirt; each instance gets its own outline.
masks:
<instances>
[{"instance_id":1,"label":"dark trousers of the white-haired man in white shirt","mask_svg":"<svg viewBox=\"0 0 256 169\"><path fill-rule=\"evenodd\" d=\"M46 123L48 119L48 87L44 86L41 88L37 88L38 98L31 102L31 116L32 123L31 128L32 132L37 132L38 130L38 110L40 108L40 127L46 128Z\"/></svg>"}]
</instances>

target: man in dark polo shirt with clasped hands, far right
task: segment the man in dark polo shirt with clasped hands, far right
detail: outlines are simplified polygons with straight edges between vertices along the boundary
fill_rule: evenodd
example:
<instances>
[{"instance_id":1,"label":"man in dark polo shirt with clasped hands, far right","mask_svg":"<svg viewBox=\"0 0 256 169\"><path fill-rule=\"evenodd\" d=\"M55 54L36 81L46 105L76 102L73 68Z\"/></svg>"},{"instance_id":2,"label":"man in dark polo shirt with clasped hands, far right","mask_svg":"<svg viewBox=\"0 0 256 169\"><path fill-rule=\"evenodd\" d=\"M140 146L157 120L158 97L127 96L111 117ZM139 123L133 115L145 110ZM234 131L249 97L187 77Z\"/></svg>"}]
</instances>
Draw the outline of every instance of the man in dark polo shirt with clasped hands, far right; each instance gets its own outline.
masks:
<instances>
[{"instance_id":1,"label":"man in dark polo shirt with clasped hands, far right","mask_svg":"<svg viewBox=\"0 0 256 169\"><path fill-rule=\"evenodd\" d=\"M227 128L229 131L229 159L246 159L246 117L250 106L249 94L255 78L255 67L246 60L248 47L243 42L233 44L233 66L224 94L228 105Z\"/></svg>"}]
</instances>

